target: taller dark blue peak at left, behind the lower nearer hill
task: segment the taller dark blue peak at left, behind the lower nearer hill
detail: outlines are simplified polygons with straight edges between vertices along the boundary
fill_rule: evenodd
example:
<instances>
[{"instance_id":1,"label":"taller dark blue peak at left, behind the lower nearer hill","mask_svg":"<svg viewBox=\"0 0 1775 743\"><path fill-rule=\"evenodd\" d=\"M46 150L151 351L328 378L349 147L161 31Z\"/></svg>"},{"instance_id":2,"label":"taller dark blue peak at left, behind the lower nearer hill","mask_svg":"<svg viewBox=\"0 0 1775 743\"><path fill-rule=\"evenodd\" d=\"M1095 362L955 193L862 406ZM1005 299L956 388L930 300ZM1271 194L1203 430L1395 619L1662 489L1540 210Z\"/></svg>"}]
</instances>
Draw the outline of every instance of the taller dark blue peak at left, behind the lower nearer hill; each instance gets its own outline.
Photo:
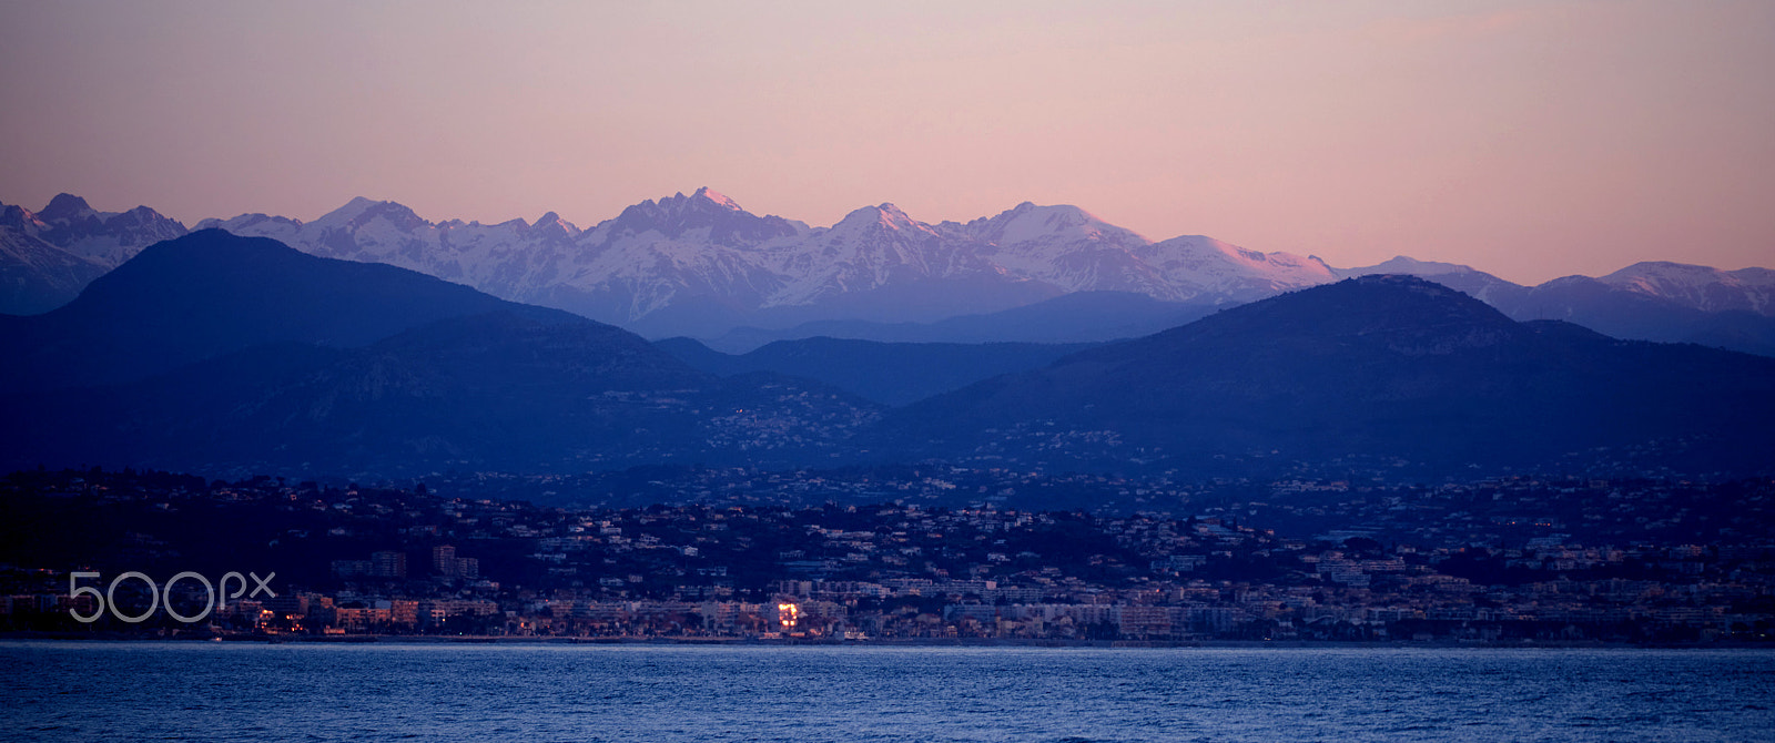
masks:
<instances>
[{"instance_id":1,"label":"taller dark blue peak at left, behind the lower nearer hill","mask_svg":"<svg viewBox=\"0 0 1775 743\"><path fill-rule=\"evenodd\" d=\"M264 238L199 231L142 250L75 301L0 317L0 388L43 390L142 379L272 342L362 346L442 317L509 310L465 285L394 266L318 259Z\"/></svg>"}]
</instances>

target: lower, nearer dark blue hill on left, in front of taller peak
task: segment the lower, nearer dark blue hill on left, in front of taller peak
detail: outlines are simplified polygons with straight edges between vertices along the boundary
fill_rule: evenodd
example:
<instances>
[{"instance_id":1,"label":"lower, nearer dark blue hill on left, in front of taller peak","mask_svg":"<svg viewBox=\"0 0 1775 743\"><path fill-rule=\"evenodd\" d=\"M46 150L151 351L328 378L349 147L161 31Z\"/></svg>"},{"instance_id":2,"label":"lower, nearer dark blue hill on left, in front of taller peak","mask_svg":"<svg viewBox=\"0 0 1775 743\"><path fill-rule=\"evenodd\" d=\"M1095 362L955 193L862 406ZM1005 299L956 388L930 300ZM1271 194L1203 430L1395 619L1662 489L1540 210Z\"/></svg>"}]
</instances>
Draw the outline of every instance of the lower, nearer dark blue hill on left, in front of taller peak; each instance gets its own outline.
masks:
<instances>
[{"instance_id":1,"label":"lower, nearer dark blue hill on left, in front of taller peak","mask_svg":"<svg viewBox=\"0 0 1775 743\"><path fill-rule=\"evenodd\" d=\"M698 372L586 319L440 319L362 348L273 344L128 385L0 397L0 465L403 477L827 456L873 408Z\"/></svg>"}]
</instances>

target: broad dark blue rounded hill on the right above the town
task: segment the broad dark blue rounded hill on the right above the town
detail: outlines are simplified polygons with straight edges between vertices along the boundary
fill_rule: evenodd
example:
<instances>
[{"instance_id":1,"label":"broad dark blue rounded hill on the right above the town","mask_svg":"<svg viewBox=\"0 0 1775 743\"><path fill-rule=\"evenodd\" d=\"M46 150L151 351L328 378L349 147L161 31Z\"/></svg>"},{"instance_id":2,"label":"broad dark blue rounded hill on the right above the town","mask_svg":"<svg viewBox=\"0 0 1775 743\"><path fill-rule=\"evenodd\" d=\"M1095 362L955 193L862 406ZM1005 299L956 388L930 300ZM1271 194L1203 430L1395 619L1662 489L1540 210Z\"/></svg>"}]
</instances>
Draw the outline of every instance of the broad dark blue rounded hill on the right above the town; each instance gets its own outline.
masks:
<instances>
[{"instance_id":1,"label":"broad dark blue rounded hill on the right above the town","mask_svg":"<svg viewBox=\"0 0 1775 743\"><path fill-rule=\"evenodd\" d=\"M884 440L909 456L1269 472L1345 458L1550 466L1658 445L1743 472L1771 465L1771 415L1775 360L1514 323L1438 284L1363 277L923 401Z\"/></svg>"}]
</instances>

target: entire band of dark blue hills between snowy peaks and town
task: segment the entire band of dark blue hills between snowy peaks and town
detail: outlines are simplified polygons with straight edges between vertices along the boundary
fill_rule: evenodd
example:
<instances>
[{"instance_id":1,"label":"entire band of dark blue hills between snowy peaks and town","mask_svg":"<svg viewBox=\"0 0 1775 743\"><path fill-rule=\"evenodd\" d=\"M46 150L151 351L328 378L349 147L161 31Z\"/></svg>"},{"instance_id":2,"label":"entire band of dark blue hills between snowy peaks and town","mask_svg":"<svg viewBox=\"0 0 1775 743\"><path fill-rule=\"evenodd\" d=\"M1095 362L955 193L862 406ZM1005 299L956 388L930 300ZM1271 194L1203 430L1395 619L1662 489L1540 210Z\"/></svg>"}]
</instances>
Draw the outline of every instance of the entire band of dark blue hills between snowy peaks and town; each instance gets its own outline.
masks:
<instances>
[{"instance_id":1,"label":"entire band of dark blue hills between snowy peaks and town","mask_svg":"<svg viewBox=\"0 0 1775 743\"><path fill-rule=\"evenodd\" d=\"M408 477L943 459L1179 477L1706 475L1768 472L1775 450L1771 358L1516 323L1384 275L1053 362L1051 348L690 348L705 369L728 364L715 374L561 310L199 231L62 309L5 317L0 348L27 362L0 394L0 468ZM896 410L840 388L930 364L1010 374Z\"/></svg>"}]
</instances>

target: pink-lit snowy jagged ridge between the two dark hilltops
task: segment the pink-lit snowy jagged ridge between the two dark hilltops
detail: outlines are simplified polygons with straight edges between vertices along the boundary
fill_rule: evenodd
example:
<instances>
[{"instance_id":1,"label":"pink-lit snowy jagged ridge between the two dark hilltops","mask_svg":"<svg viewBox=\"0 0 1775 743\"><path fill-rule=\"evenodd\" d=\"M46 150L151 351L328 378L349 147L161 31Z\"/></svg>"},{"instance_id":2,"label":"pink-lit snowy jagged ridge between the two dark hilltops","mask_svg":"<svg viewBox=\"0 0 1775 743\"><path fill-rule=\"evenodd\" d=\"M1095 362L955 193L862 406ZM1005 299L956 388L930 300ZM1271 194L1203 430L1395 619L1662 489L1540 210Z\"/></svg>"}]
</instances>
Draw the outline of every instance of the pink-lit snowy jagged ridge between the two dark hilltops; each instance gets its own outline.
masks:
<instances>
[{"instance_id":1,"label":"pink-lit snowy jagged ridge between the two dark hilltops","mask_svg":"<svg viewBox=\"0 0 1775 743\"><path fill-rule=\"evenodd\" d=\"M935 225L879 204L832 227L808 227L751 215L703 188L635 204L588 231L552 215L536 223L433 223L366 199L311 223L243 215L201 225L325 257L390 262L655 335L699 323L662 319L673 310L714 330L740 321L937 321L1079 291L1232 303L1331 278L1317 259L1211 238L1152 243L1072 206L1028 202ZM706 319L719 312L731 317Z\"/></svg>"}]
</instances>

